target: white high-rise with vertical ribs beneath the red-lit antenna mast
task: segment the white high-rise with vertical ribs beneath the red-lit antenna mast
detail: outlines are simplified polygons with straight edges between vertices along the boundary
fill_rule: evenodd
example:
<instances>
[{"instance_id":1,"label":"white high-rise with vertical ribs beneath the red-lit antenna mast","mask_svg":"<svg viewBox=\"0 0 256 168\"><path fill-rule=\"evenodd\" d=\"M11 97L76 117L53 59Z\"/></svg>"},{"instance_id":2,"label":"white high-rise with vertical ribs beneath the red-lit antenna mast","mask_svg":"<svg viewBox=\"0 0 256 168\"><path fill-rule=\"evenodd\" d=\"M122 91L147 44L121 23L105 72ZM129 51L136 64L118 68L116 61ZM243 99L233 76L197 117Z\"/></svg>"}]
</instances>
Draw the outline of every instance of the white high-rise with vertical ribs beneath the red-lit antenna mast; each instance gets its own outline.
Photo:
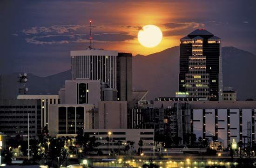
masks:
<instances>
[{"instance_id":1,"label":"white high-rise with vertical ribs beneath the red-lit antenna mast","mask_svg":"<svg viewBox=\"0 0 256 168\"><path fill-rule=\"evenodd\" d=\"M72 80L99 80L116 88L117 51L88 49L71 51Z\"/></svg>"}]
</instances>

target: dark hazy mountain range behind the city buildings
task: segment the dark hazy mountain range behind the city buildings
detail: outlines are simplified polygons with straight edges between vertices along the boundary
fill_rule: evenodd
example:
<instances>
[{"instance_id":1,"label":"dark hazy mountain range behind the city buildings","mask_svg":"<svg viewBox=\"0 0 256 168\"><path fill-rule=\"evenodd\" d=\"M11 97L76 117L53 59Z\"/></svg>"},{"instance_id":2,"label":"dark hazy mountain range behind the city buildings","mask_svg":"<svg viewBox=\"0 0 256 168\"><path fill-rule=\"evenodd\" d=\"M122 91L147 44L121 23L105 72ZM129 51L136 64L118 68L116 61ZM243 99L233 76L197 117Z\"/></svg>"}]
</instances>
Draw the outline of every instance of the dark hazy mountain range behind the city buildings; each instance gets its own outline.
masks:
<instances>
[{"instance_id":1,"label":"dark hazy mountain range behind the city buildings","mask_svg":"<svg viewBox=\"0 0 256 168\"><path fill-rule=\"evenodd\" d=\"M148 90L148 100L175 96L178 91L179 46L148 56L133 57L133 89ZM233 87L238 100L256 99L256 55L235 47L222 47L223 87ZM18 90L18 75L1 75L1 99L13 99ZM27 94L57 94L65 80L71 79L71 70L40 77L28 74Z\"/></svg>"}]
</instances>

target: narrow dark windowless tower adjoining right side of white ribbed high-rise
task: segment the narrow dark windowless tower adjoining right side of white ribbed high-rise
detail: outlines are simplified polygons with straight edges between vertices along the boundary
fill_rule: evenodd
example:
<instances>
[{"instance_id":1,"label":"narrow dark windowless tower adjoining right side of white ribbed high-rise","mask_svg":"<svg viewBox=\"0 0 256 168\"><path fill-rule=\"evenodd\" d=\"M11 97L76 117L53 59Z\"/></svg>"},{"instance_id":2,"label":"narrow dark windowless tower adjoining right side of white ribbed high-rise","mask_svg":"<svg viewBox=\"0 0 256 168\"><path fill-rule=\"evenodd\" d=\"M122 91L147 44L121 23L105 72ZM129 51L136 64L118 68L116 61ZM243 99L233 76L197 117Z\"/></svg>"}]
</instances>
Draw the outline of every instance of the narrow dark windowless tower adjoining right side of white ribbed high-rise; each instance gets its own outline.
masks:
<instances>
[{"instance_id":1,"label":"narrow dark windowless tower adjoining right side of white ribbed high-rise","mask_svg":"<svg viewBox=\"0 0 256 168\"><path fill-rule=\"evenodd\" d=\"M118 53L117 56L117 99L131 101L133 93L132 54Z\"/></svg>"}]
</instances>

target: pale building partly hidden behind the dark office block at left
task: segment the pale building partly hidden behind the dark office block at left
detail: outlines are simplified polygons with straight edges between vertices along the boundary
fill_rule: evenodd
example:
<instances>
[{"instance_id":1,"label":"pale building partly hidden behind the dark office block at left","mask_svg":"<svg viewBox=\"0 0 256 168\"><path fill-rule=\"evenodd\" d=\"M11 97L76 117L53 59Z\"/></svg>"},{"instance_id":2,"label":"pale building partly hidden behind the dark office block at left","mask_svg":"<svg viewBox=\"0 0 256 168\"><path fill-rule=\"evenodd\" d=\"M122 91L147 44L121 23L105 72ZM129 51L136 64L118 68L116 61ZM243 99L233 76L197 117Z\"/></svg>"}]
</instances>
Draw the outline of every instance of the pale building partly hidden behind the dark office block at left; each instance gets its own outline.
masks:
<instances>
[{"instance_id":1,"label":"pale building partly hidden behind the dark office block at left","mask_svg":"<svg viewBox=\"0 0 256 168\"><path fill-rule=\"evenodd\" d=\"M37 94L37 95L18 95L17 99L26 99L26 100L40 100L41 101L41 128L48 124L48 113L49 105L59 103L59 95L51 94Z\"/></svg>"}]
</instances>

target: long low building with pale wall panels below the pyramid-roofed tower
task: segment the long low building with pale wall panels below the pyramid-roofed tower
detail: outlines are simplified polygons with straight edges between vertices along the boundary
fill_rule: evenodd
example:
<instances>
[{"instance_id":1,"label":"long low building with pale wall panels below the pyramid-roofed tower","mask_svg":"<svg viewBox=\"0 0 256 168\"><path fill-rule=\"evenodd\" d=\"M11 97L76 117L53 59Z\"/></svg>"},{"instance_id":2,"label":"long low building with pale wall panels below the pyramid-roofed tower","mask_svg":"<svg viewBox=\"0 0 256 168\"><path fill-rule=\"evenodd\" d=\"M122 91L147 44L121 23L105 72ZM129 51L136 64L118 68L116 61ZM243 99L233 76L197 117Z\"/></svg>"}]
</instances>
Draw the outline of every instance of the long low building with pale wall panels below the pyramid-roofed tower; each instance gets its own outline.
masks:
<instances>
[{"instance_id":1,"label":"long low building with pale wall panels below the pyramid-roofed tower","mask_svg":"<svg viewBox=\"0 0 256 168\"><path fill-rule=\"evenodd\" d=\"M173 108L177 121L170 124L177 123L176 132L179 137L184 137L186 133L194 133L197 139L202 137L202 139L212 140L212 137L215 137L222 142L224 148L230 146L233 138L236 142L245 140L245 143L251 146L256 144L256 101L166 100L154 101L154 105L151 105L150 108ZM143 121L140 115L136 118ZM134 122L139 123L136 118ZM155 120L155 124L158 123ZM246 136L248 138L244 139ZM186 144L184 139L181 144Z\"/></svg>"}]
</instances>

